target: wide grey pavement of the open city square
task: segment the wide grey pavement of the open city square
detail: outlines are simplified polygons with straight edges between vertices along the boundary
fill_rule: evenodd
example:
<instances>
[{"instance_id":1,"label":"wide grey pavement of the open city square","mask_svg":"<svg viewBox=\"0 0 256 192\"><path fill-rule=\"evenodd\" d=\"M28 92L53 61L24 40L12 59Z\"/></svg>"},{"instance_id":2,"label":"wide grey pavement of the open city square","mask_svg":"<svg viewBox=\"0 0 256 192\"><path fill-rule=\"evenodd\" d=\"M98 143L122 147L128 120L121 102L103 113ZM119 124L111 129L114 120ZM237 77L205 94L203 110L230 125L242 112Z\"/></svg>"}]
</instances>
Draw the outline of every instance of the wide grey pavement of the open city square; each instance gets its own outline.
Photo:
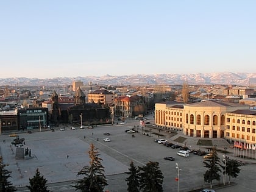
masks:
<instances>
[{"instance_id":1,"label":"wide grey pavement of the open city square","mask_svg":"<svg viewBox=\"0 0 256 192\"><path fill-rule=\"evenodd\" d=\"M131 161L136 166L144 166L151 161L159 162L160 169L164 175L164 191L177 191L176 162L180 168L180 191L196 190L205 187L202 166L202 157L190 155L189 158L177 156L177 150L166 148L161 144L154 142L157 135L152 134L158 130L151 127L152 137L139 133L135 138L125 133L124 130L132 128L135 122L127 120L126 125L114 125L106 127L95 127L95 129L77 129L70 130L66 126L63 132L34 132L32 134L22 133L21 138L25 138L26 145L24 148L31 149L32 158L24 160L15 160L15 147L10 143L13 140L8 135L1 135L1 155L4 163L8 163L7 169L12 171L11 181L18 188L18 191L28 191L24 186L29 185L29 178L35 175L38 168L41 175L48 180L51 191L75 191L69 185L73 180L80 179L76 176L77 172L89 162L87 151L90 149L90 143L93 143L99 150L100 157L103 159L102 165L105 167L105 176L109 185L105 188L110 191L127 191L127 185L124 181L127 177L124 174L128 170ZM112 139L111 142L103 142L104 132L110 132L107 136ZM161 131L162 138L175 142L178 137L185 137L182 133L172 136L169 132ZM86 138L84 138L84 136ZM98 139L99 138L99 141ZM198 149L198 138L187 137L185 142L188 146ZM184 143L180 143L184 144ZM213 140L213 145L217 148L227 148L229 155L233 152L227 141L222 139ZM201 146L204 148L206 146ZM208 147L208 146L207 146ZM69 157L67 158L67 155ZM176 158L175 162L163 160L166 155L172 155ZM248 163L254 163L254 160L246 160ZM249 171L249 169L247 170ZM253 174L252 174L253 175ZM218 190L220 191L220 190ZM250 190L249 190L250 191Z\"/></svg>"}]
</instances>

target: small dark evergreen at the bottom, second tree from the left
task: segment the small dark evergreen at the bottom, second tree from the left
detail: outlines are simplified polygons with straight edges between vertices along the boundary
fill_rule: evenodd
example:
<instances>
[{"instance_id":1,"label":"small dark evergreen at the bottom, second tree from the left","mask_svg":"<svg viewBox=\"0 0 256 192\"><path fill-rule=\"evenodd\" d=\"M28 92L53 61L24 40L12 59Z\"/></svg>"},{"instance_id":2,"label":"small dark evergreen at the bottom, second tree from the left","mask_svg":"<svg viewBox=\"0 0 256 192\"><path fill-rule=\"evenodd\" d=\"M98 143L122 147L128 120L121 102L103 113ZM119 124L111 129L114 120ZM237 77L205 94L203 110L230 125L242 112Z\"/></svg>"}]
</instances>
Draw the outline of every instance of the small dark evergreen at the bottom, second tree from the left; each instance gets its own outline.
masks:
<instances>
[{"instance_id":1,"label":"small dark evergreen at the bottom, second tree from the left","mask_svg":"<svg viewBox=\"0 0 256 192\"><path fill-rule=\"evenodd\" d=\"M30 192L49 192L49 190L47 190L46 182L47 180L44 179L43 176L40 176L40 171L37 168L35 176L32 179L29 178L30 185L26 185L26 187Z\"/></svg>"}]
</instances>

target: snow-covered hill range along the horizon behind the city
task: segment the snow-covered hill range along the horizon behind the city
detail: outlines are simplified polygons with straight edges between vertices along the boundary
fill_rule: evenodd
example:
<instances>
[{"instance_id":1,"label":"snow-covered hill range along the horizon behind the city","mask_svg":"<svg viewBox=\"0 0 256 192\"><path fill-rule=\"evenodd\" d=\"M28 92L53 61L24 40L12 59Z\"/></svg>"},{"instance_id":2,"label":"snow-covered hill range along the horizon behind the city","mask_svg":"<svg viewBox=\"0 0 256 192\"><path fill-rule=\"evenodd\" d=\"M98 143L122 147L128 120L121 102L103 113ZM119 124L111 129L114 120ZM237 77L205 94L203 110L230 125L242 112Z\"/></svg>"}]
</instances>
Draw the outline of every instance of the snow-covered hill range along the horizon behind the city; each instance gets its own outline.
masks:
<instances>
[{"instance_id":1,"label":"snow-covered hill range along the horizon behind the city","mask_svg":"<svg viewBox=\"0 0 256 192\"><path fill-rule=\"evenodd\" d=\"M51 79L37 79L26 77L0 78L0 85L37 85L57 86L71 85L74 80L80 80L84 84L92 82L99 85L176 85L187 82L196 84L224 84L248 86L250 79L254 81L256 73L197 73L197 74L135 74L130 76L86 76L86 77L55 77Z\"/></svg>"}]
</instances>

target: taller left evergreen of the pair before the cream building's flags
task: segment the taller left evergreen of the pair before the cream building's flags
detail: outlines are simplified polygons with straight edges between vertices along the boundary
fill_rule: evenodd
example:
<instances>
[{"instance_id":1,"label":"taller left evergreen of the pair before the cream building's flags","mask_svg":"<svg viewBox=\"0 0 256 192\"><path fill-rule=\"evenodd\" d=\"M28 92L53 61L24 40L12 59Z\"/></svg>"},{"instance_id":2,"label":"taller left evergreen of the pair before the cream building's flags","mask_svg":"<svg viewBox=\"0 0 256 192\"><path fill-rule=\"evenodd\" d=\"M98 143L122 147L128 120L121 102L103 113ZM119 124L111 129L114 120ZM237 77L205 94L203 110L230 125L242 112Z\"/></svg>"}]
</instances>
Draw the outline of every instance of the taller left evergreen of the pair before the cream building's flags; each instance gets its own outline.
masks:
<instances>
[{"instance_id":1,"label":"taller left evergreen of the pair before the cream building's flags","mask_svg":"<svg viewBox=\"0 0 256 192\"><path fill-rule=\"evenodd\" d=\"M216 148L213 148L210 154L212 154L212 157L204 160L203 162L204 167L208 168L208 170L204 174L204 181L210 183L210 188L212 188L213 180L220 180L221 176L219 175L219 172L221 171L221 169Z\"/></svg>"}]
</instances>

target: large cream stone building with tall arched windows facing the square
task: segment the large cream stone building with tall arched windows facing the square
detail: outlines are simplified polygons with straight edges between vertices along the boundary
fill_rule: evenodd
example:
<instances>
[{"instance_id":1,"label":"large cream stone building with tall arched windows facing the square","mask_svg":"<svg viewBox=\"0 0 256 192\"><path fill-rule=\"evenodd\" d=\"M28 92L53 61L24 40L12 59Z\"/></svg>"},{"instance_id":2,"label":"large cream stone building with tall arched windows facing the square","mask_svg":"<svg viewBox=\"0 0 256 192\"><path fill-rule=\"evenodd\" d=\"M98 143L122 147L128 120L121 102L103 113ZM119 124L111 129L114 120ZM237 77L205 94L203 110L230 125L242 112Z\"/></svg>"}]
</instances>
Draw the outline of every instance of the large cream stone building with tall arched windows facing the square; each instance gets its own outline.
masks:
<instances>
[{"instance_id":1,"label":"large cream stone building with tall arched windows facing the square","mask_svg":"<svg viewBox=\"0 0 256 192\"><path fill-rule=\"evenodd\" d=\"M228 138L233 141L237 139L237 135L232 132L233 129L228 129L233 126L233 124L230 125L229 119L237 116L236 112L241 112L240 110L244 114L238 116L249 118L251 122L256 118L245 113L249 112L248 105L230 102L208 100L185 105L182 103L155 104L155 125L168 130L180 130L190 137ZM244 135L244 137L247 136ZM247 139L252 140L252 136Z\"/></svg>"}]
</instances>

